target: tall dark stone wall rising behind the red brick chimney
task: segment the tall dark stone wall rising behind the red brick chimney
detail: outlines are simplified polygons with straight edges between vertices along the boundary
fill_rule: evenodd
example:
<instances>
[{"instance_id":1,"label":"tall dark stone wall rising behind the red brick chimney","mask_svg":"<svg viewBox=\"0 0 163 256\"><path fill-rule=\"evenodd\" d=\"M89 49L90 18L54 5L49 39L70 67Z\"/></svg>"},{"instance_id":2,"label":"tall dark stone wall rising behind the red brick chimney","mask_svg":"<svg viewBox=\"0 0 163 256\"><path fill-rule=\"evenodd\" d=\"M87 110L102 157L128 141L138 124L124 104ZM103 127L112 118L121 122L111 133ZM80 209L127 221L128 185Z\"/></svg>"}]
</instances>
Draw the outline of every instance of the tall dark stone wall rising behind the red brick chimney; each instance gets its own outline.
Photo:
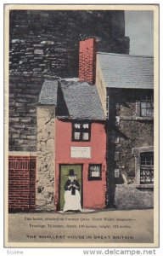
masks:
<instances>
[{"instance_id":1,"label":"tall dark stone wall rising behind the red brick chimney","mask_svg":"<svg viewBox=\"0 0 163 256\"><path fill-rule=\"evenodd\" d=\"M9 16L9 150L37 149L37 97L44 79L78 77L79 41L129 53L123 11L12 10Z\"/></svg>"}]
</instances>

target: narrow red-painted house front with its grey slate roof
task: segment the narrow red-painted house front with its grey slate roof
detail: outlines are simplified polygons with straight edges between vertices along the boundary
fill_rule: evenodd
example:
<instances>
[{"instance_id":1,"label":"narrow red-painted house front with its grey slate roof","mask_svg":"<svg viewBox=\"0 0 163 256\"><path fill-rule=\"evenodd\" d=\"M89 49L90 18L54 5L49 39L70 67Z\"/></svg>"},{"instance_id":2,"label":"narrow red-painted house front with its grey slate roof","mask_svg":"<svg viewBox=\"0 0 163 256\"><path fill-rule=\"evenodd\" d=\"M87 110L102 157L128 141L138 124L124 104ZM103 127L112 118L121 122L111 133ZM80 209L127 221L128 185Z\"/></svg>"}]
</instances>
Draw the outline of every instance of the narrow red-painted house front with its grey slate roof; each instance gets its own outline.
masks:
<instances>
[{"instance_id":1,"label":"narrow red-painted house front with its grey slate roof","mask_svg":"<svg viewBox=\"0 0 163 256\"><path fill-rule=\"evenodd\" d=\"M78 79L65 79L59 80L56 90L56 84L49 81L48 86L47 83L42 86L39 104L46 103L47 106L53 93L57 93L53 144L54 208L63 210L64 186L70 169L74 170L80 183L82 208L104 208L105 117L96 86L78 82ZM44 97L48 100L45 101Z\"/></svg>"}]
</instances>

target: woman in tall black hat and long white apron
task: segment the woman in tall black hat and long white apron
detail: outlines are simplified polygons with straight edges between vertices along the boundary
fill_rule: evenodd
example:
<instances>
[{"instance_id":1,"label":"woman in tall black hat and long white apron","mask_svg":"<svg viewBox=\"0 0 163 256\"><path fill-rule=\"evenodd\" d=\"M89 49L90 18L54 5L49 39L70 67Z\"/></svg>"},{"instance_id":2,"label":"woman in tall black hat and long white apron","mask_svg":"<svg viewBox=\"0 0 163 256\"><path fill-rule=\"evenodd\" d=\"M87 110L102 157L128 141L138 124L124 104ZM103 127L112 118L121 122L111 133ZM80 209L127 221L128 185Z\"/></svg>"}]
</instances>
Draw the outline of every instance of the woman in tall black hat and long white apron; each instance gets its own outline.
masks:
<instances>
[{"instance_id":1,"label":"woman in tall black hat and long white apron","mask_svg":"<svg viewBox=\"0 0 163 256\"><path fill-rule=\"evenodd\" d=\"M73 169L69 170L69 179L65 183L65 205L63 212L82 211L80 184Z\"/></svg>"}]
</instances>

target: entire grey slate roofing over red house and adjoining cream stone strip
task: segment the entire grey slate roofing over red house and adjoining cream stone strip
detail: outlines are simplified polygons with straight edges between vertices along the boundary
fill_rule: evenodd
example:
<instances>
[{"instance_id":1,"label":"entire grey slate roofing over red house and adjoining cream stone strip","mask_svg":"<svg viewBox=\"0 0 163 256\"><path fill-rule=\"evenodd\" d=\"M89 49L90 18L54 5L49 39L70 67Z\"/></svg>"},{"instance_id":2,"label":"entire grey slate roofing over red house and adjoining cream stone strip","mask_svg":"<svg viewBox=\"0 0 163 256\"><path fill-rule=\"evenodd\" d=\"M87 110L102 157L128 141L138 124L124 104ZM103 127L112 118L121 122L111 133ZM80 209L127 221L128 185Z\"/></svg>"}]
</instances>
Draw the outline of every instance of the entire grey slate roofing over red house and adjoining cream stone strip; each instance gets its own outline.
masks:
<instances>
[{"instance_id":1,"label":"entire grey slate roofing over red house and adjoining cream stone strip","mask_svg":"<svg viewBox=\"0 0 163 256\"><path fill-rule=\"evenodd\" d=\"M63 119L105 119L96 85L77 79L46 80L38 104L55 105L56 116Z\"/></svg>"}]
</instances>

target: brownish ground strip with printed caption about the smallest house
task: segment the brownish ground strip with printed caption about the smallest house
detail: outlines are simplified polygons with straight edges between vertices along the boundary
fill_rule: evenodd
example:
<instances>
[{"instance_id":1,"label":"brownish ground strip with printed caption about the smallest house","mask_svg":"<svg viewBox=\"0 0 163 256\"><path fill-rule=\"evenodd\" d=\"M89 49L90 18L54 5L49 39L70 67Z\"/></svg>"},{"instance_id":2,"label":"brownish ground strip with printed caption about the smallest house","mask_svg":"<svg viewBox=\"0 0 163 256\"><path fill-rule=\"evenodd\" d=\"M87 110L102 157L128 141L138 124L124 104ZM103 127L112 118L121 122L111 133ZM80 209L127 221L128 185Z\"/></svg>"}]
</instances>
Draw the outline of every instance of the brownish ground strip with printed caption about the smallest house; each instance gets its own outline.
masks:
<instances>
[{"instance_id":1,"label":"brownish ground strip with printed caption about the smallest house","mask_svg":"<svg viewBox=\"0 0 163 256\"><path fill-rule=\"evenodd\" d=\"M35 212L8 215L8 242L153 243L154 211ZM31 246L32 246L31 244ZM37 244L38 245L38 244Z\"/></svg>"}]
</instances>

